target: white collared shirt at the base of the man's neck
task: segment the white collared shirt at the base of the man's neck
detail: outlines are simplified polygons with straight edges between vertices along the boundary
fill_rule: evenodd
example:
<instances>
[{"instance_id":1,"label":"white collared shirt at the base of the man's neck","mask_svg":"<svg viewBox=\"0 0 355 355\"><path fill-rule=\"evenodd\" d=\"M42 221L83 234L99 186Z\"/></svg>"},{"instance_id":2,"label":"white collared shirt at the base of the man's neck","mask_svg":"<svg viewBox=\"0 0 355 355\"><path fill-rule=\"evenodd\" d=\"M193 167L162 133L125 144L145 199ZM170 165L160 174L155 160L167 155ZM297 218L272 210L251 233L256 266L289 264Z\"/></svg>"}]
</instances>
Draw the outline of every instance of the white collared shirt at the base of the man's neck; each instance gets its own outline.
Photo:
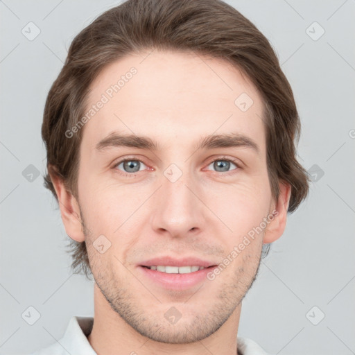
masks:
<instances>
[{"instance_id":1,"label":"white collared shirt at the base of the man's neck","mask_svg":"<svg viewBox=\"0 0 355 355\"><path fill-rule=\"evenodd\" d=\"M87 340L93 324L92 317L74 316L69 320L64 336L58 340L58 343L53 343L30 355L97 355ZM237 340L238 355L269 355L254 340L241 337Z\"/></svg>"}]
</instances>

